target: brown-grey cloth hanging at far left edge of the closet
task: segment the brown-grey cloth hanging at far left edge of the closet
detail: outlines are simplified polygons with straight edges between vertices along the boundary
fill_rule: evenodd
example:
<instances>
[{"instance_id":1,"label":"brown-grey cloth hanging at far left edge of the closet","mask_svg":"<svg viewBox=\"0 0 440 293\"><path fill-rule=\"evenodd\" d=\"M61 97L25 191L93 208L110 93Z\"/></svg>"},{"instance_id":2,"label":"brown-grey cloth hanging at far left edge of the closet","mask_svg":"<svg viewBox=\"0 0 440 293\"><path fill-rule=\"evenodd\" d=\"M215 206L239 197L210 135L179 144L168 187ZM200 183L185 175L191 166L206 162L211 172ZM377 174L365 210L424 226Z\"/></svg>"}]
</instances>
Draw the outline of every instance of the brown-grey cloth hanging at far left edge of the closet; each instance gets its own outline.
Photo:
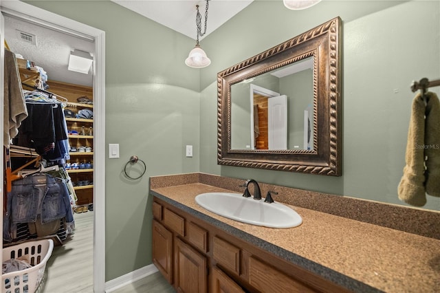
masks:
<instances>
[{"instance_id":1,"label":"brown-grey cloth hanging at far left edge of the closet","mask_svg":"<svg viewBox=\"0 0 440 293\"><path fill-rule=\"evenodd\" d=\"M21 122L28 117L15 54L5 49L4 63L3 145L9 147L19 133Z\"/></svg>"}]
</instances>

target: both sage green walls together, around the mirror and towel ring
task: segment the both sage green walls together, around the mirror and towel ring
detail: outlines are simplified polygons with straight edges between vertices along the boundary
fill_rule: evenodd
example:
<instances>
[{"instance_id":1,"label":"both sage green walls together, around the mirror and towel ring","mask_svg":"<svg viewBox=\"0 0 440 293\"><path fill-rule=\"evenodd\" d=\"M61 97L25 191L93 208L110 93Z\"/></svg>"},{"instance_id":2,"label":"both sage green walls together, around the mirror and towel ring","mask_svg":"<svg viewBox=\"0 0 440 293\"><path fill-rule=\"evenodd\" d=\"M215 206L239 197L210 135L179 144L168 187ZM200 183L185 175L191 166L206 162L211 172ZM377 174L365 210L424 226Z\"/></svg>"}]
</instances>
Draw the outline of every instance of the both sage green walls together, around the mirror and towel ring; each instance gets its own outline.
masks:
<instances>
[{"instance_id":1,"label":"both sage green walls together, around the mirror and towel ring","mask_svg":"<svg viewBox=\"0 0 440 293\"><path fill-rule=\"evenodd\" d=\"M440 77L439 1L323 1L294 12L257 0L201 41L212 64L200 70L183 62L192 39L110 1L28 3L106 32L106 142L119 143L121 155L105 170L107 281L151 263L148 176L202 171L402 204L409 85ZM342 177L217 165L217 72L337 16L344 22ZM185 158L186 144L193 158ZM122 172L134 154L147 173L131 182ZM440 201L426 208L440 210Z\"/></svg>"}]
</instances>

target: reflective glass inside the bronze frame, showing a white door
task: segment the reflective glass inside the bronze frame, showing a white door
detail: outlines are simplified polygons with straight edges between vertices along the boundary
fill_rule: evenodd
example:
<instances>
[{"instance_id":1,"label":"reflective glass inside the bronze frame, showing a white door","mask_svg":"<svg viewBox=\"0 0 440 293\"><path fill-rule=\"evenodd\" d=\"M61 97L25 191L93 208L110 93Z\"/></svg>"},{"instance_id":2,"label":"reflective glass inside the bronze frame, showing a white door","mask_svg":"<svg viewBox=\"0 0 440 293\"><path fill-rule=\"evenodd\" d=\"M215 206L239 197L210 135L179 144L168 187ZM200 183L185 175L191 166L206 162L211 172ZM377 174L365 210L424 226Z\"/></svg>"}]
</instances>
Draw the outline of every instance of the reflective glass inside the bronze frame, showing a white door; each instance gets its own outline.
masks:
<instances>
[{"instance_id":1,"label":"reflective glass inside the bronze frame, showing a white door","mask_svg":"<svg viewBox=\"0 0 440 293\"><path fill-rule=\"evenodd\" d=\"M313 150L314 57L231 86L231 149Z\"/></svg>"}]
</instances>

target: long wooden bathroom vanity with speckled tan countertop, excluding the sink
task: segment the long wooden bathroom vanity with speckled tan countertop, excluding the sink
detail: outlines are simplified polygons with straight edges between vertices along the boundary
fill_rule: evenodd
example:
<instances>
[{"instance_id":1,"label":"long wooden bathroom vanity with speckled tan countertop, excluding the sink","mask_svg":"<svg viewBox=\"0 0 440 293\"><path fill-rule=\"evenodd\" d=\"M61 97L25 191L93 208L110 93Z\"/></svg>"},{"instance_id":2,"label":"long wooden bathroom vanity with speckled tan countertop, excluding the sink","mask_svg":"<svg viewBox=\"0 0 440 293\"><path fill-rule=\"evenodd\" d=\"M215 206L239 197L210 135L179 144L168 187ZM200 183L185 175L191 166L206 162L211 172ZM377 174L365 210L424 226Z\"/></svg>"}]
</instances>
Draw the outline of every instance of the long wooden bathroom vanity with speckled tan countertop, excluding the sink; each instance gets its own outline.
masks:
<instances>
[{"instance_id":1,"label":"long wooden bathroom vanity with speckled tan countertop, excluding the sink","mask_svg":"<svg viewBox=\"0 0 440 293\"><path fill-rule=\"evenodd\" d=\"M153 263L178 292L438 290L439 239L291 204L303 224L265 228L195 202L200 193L240 192L239 183L201 173L151 177ZM261 186L265 194L268 186ZM419 219L438 217L434 212Z\"/></svg>"}]
</instances>

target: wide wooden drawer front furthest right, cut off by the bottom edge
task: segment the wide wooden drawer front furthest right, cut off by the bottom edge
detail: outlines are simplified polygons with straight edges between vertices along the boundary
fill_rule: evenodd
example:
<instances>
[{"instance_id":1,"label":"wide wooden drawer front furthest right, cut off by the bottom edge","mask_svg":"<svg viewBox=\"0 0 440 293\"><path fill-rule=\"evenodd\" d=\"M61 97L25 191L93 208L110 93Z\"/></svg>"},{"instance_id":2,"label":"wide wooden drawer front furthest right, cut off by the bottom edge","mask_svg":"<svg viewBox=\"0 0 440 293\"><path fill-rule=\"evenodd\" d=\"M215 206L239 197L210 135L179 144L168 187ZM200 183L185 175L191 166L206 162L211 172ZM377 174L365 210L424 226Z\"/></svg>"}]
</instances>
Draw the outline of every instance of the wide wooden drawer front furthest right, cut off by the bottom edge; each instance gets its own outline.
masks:
<instances>
[{"instance_id":1,"label":"wide wooden drawer front furthest right, cut off by the bottom edge","mask_svg":"<svg viewBox=\"0 0 440 293\"><path fill-rule=\"evenodd\" d=\"M249 258L249 283L261 292L315 292L255 257Z\"/></svg>"}]
</instances>

